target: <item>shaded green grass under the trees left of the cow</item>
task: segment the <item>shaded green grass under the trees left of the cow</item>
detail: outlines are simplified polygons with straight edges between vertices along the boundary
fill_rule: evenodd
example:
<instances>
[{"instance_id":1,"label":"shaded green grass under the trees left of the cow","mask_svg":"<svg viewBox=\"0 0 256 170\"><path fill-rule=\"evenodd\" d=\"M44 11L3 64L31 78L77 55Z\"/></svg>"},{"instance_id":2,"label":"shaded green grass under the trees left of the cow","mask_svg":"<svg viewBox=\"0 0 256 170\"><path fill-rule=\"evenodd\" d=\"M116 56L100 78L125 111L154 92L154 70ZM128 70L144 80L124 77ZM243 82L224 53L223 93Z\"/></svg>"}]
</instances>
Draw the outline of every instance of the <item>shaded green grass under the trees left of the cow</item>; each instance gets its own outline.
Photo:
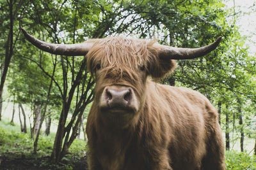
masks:
<instances>
[{"instance_id":1,"label":"shaded green grass under the trees left of the cow","mask_svg":"<svg viewBox=\"0 0 256 170\"><path fill-rule=\"evenodd\" d=\"M84 160L86 143L75 139L70 146L69 153L60 164L52 164L50 160L54 135L40 136L37 153L33 153L33 139L29 134L20 132L20 127L0 121L0 169L74 169ZM1 157L4 161L1 164ZM14 165L15 164L15 165ZM13 167L14 166L14 167ZM16 166L16 167L15 167Z\"/></svg>"}]
</instances>

